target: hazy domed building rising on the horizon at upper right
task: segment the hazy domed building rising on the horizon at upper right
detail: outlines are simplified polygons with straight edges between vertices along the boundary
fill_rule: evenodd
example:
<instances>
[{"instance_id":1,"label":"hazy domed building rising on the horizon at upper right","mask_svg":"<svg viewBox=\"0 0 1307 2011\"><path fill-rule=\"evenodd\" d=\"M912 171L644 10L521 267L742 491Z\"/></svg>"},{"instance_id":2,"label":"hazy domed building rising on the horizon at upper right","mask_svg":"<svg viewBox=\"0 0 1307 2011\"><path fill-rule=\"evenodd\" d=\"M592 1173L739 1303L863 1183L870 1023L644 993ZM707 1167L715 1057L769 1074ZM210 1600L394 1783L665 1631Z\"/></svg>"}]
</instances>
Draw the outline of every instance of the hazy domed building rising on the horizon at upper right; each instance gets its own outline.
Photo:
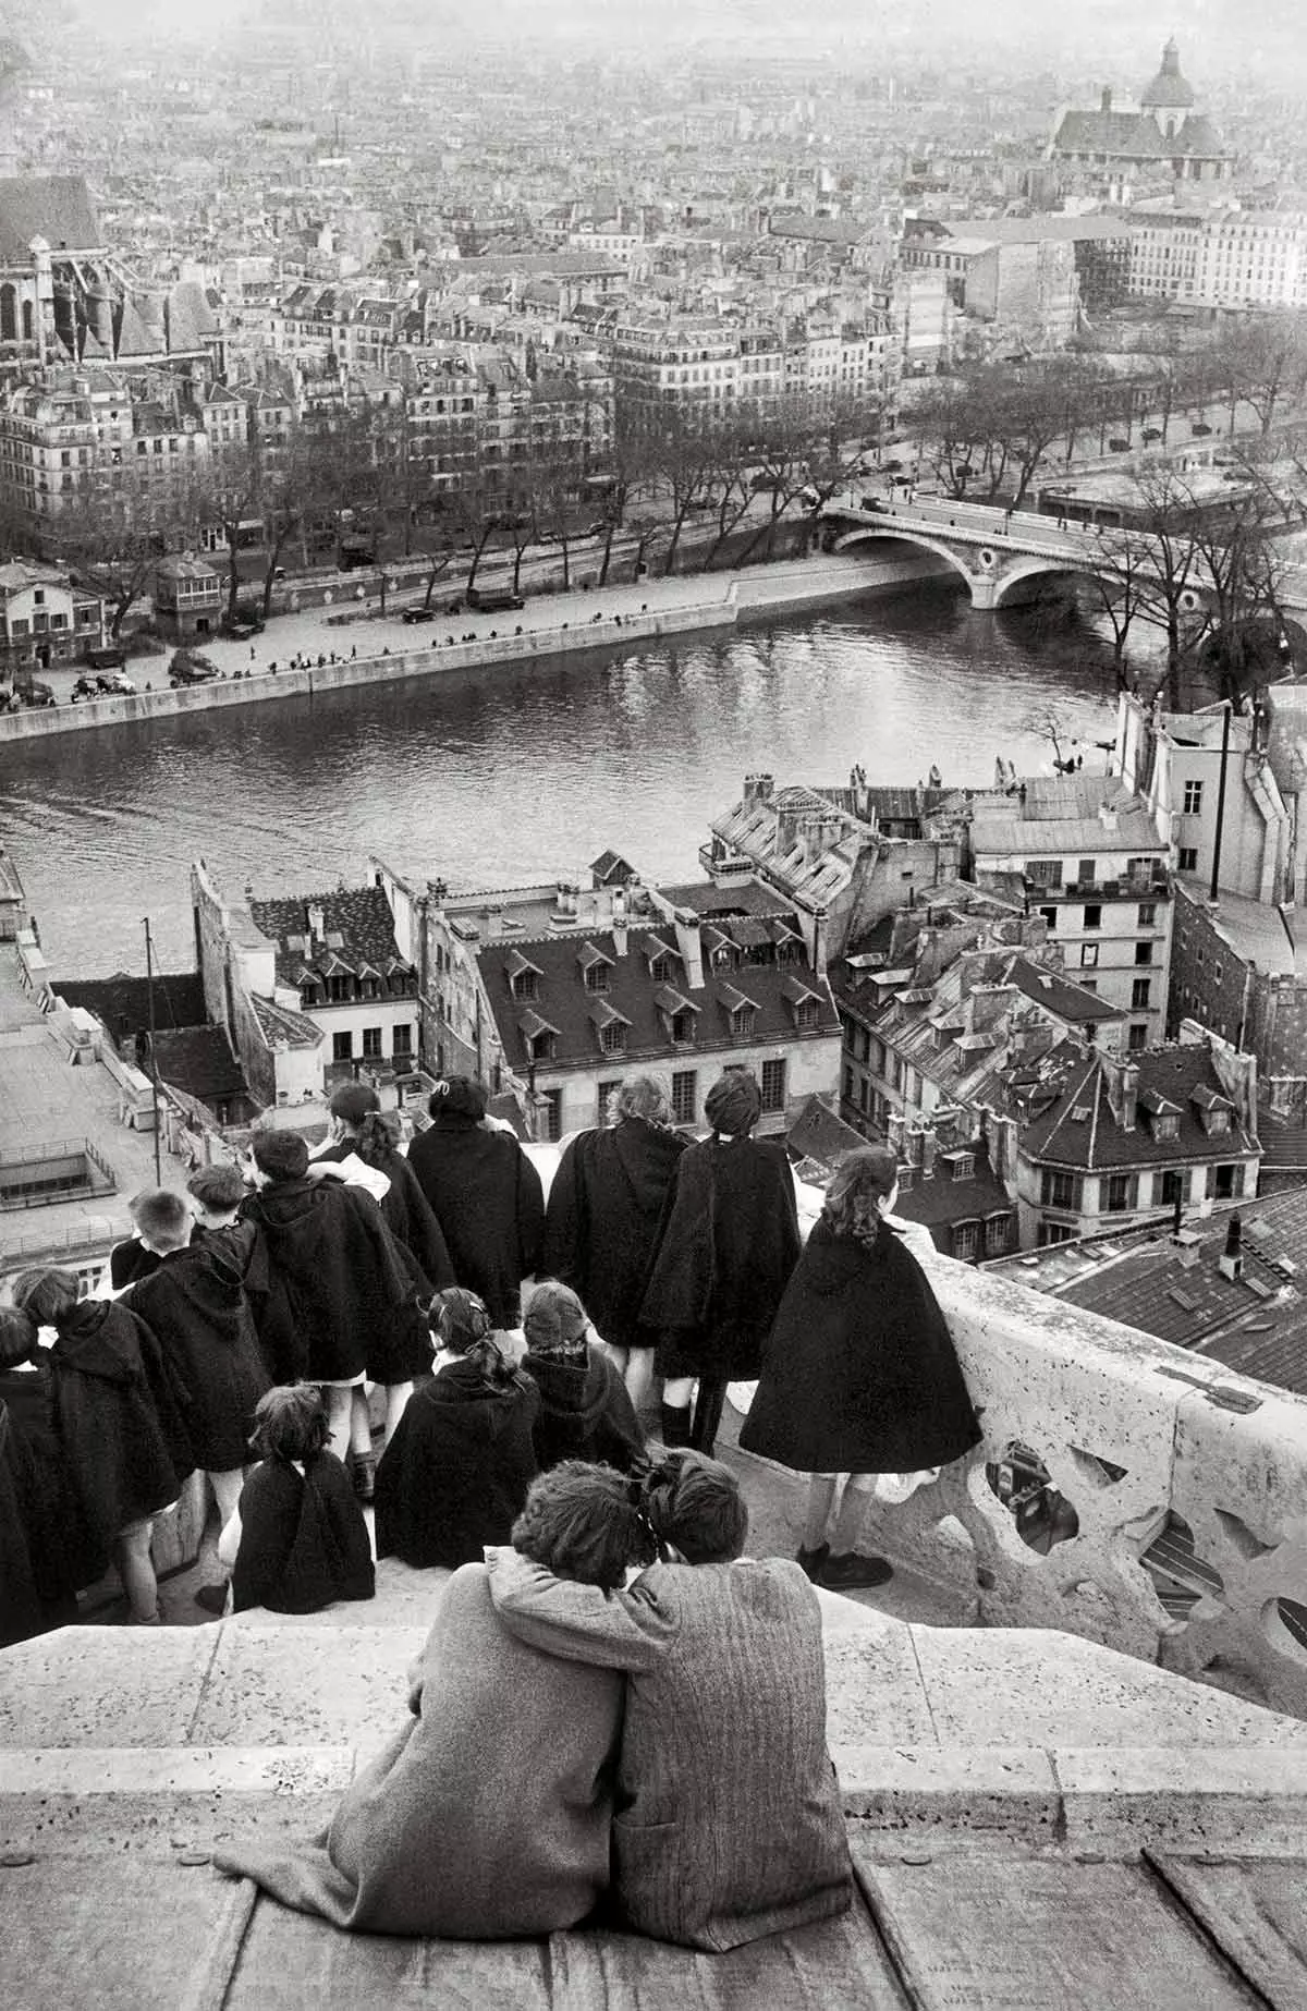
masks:
<instances>
[{"instance_id":1,"label":"hazy domed building rising on the horizon at upper right","mask_svg":"<svg viewBox=\"0 0 1307 2011\"><path fill-rule=\"evenodd\" d=\"M1048 157L1110 183L1108 193L1118 201L1126 199L1130 183L1158 175L1225 181L1235 159L1196 103L1172 36L1162 48L1162 66L1136 105L1114 107L1112 90L1104 88L1098 111L1064 109Z\"/></svg>"}]
</instances>

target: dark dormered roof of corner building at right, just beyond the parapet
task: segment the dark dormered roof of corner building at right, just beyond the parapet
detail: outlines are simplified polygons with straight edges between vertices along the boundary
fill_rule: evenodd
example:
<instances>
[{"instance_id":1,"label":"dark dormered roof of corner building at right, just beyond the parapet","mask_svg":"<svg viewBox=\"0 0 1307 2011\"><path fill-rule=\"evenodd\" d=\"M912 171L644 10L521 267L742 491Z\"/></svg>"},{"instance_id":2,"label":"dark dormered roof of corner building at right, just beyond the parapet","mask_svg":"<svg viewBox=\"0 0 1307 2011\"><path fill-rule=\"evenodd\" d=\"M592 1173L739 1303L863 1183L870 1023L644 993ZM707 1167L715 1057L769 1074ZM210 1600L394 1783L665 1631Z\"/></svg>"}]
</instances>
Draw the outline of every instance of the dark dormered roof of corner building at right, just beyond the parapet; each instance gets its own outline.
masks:
<instances>
[{"instance_id":1,"label":"dark dormered roof of corner building at right, just beyond the parapet","mask_svg":"<svg viewBox=\"0 0 1307 2011\"><path fill-rule=\"evenodd\" d=\"M1122 1130L1108 1098L1106 1064L1094 1054L1068 1070L1056 1100L1028 1120L1021 1134L1023 1158L1092 1172L1114 1166L1192 1166L1255 1150L1255 1140L1237 1116L1225 1136L1208 1136L1194 1114L1192 1098L1198 1088L1223 1094L1204 1046L1146 1048L1130 1060L1138 1068L1140 1098L1152 1090L1178 1106L1174 1138L1154 1138L1142 1116L1134 1130ZM1078 1110L1084 1116L1076 1116Z\"/></svg>"}]
</instances>

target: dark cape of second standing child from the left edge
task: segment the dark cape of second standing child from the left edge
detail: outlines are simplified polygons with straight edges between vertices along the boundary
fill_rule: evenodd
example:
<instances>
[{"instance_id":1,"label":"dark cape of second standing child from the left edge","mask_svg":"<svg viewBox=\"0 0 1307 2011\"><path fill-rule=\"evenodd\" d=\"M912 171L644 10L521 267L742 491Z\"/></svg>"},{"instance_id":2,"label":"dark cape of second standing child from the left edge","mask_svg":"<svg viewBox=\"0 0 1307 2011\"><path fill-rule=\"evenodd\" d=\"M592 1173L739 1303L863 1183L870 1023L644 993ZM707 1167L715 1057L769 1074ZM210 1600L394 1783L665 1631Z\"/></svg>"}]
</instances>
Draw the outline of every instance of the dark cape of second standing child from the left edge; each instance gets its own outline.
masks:
<instances>
[{"instance_id":1,"label":"dark cape of second standing child from the left edge","mask_svg":"<svg viewBox=\"0 0 1307 2011\"><path fill-rule=\"evenodd\" d=\"M167 1508L193 1470L185 1386L127 1305L82 1299L48 1351L54 1420L92 1534Z\"/></svg>"}]
</instances>

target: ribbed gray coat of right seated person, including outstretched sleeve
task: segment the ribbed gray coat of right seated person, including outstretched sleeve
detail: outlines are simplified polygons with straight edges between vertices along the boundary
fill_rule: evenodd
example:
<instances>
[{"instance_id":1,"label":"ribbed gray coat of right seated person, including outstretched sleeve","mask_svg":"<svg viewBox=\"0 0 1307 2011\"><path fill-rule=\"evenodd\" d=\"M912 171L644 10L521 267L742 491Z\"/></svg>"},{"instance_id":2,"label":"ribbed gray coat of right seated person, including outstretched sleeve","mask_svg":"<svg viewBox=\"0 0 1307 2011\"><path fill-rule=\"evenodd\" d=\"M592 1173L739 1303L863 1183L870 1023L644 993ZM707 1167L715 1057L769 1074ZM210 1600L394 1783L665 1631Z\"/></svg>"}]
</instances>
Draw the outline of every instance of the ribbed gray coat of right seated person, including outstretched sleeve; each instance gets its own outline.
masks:
<instances>
[{"instance_id":1,"label":"ribbed gray coat of right seated person, including outstretched sleeve","mask_svg":"<svg viewBox=\"0 0 1307 2011\"><path fill-rule=\"evenodd\" d=\"M487 1565L519 1641L577 1675L627 1675L613 1816L627 1927L724 1951L845 1912L820 1607L798 1565L654 1565L613 1595L517 1550Z\"/></svg>"}]
</instances>

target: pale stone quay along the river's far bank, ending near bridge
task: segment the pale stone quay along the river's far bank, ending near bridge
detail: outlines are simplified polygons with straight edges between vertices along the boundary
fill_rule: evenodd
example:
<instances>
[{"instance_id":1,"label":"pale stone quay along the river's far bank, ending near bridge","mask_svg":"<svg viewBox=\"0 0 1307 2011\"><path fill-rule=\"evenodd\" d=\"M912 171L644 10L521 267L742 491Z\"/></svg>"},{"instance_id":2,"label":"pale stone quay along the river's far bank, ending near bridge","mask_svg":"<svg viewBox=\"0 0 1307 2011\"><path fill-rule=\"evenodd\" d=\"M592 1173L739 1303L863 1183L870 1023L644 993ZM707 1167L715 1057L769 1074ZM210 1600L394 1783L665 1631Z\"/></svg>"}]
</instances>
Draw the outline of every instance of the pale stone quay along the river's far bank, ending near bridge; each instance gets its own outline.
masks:
<instances>
[{"instance_id":1,"label":"pale stone quay along the river's far bank, ending near bridge","mask_svg":"<svg viewBox=\"0 0 1307 2011\"><path fill-rule=\"evenodd\" d=\"M191 712L215 712L227 706L257 706L286 698L314 698L322 692L360 684L392 684L408 678L434 678L452 670L495 670L505 664L529 664L555 656L575 656L583 650L629 648L658 642L666 635L686 635L804 607L849 601L863 593L911 585L917 579L947 575L951 569L931 559L804 559L750 567L744 573L702 579L716 587L690 601L666 597L666 589L700 585L700 581L643 581L639 591L664 605L629 609L631 589L619 595L577 593L555 595L549 601L549 623L523 625L513 635L483 633L475 642L440 642L406 646L382 654L360 656L342 664L306 664L300 670L259 672L245 678L217 678L155 692L135 692L121 698L90 698L84 704L26 706L0 714L0 744L44 740L52 734L103 732L113 726L133 726L147 720L175 718ZM660 593L664 589L664 593ZM595 609L595 601L617 601ZM569 617L567 609L575 613ZM406 635L410 631L404 631ZM163 670L161 670L163 674Z\"/></svg>"}]
</instances>

